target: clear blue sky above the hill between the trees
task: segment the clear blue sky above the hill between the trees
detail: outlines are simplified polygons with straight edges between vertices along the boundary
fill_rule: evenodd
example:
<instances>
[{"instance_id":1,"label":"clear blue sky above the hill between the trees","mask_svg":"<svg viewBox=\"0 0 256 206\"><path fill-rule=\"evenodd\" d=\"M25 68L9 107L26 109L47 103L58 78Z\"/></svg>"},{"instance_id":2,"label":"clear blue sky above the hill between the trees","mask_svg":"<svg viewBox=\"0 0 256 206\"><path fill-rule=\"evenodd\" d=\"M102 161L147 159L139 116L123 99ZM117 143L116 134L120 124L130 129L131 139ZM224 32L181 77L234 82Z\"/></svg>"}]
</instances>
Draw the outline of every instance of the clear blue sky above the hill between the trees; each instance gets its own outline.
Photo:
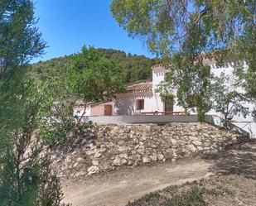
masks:
<instances>
[{"instance_id":1,"label":"clear blue sky above the hill between the trees","mask_svg":"<svg viewBox=\"0 0 256 206\"><path fill-rule=\"evenodd\" d=\"M49 48L38 60L70 55L85 46L152 57L145 42L128 37L111 15L111 0L35 0L38 27Z\"/></svg>"}]
</instances>

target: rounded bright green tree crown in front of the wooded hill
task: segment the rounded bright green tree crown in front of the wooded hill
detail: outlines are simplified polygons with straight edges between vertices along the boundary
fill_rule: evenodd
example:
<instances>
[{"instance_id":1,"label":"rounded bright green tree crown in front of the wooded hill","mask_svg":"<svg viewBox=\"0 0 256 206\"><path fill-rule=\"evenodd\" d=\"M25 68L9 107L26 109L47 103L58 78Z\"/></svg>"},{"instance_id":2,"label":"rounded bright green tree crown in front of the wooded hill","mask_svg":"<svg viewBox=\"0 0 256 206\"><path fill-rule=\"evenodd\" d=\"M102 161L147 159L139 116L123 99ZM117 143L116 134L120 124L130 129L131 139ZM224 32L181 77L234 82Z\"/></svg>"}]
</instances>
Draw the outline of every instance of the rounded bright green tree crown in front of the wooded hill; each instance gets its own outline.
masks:
<instances>
[{"instance_id":1,"label":"rounded bright green tree crown in front of the wooded hill","mask_svg":"<svg viewBox=\"0 0 256 206\"><path fill-rule=\"evenodd\" d=\"M122 70L93 47L84 46L80 54L74 55L67 78L72 93L85 103L111 98L125 89Z\"/></svg>"}]
</instances>

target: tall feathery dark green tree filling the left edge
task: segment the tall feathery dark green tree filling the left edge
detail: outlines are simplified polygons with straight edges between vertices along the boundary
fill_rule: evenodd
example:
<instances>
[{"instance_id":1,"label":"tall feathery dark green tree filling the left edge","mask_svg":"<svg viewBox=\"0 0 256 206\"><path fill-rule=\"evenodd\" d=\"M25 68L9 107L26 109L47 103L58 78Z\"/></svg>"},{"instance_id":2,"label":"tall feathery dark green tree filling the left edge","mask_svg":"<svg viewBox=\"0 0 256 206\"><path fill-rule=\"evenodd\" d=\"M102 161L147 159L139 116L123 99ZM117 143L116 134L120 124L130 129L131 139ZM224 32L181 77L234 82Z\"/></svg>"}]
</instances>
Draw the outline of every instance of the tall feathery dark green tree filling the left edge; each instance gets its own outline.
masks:
<instances>
[{"instance_id":1,"label":"tall feathery dark green tree filling the left edge","mask_svg":"<svg viewBox=\"0 0 256 206\"><path fill-rule=\"evenodd\" d=\"M60 205L60 181L38 131L47 124L54 81L31 79L27 63L46 44L30 0L0 2L0 205Z\"/></svg>"}]
</instances>

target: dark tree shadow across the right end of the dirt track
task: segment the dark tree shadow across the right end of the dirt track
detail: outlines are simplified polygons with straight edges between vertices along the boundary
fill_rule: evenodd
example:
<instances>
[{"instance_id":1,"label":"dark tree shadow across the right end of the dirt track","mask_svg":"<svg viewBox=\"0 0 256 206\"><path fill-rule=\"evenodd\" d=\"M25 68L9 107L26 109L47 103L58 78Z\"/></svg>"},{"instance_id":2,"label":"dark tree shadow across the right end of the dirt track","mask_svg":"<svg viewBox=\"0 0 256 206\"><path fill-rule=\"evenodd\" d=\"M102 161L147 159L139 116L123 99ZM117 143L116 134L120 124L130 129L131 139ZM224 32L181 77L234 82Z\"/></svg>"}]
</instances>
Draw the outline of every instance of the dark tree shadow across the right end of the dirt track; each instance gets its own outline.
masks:
<instances>
[{"instance_id":1,"label":"dark tree shadow across the right end of the dirt track","mask_svg":"<svg viewBox=\"0 0 256 206\"><path fill-rule=\"evenodd\" d=\"M217 155L205 155L206 161L214 163L210 171L219 175L243 175L256 180L256 143L249 142L238 148L220 152Z\"/></svg>"}]
</instances>

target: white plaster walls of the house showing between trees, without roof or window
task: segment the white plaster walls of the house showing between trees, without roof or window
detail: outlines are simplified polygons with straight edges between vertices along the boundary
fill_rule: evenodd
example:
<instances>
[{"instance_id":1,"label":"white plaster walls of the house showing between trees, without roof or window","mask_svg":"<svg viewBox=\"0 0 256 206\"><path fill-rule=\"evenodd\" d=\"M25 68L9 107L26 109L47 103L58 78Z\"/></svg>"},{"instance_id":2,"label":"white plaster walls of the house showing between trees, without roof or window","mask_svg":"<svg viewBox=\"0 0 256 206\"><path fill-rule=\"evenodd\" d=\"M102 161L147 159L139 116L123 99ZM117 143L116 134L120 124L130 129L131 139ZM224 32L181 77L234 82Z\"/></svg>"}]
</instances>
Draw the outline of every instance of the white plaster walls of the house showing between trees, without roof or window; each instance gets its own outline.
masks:
<instances>
[{"instance_id":1,"label":"white plaster walls of the house showing between trees, without roof or window","mask_svg":"<svg viewBox=\"0 0 256 206\"><path fill-rule=\"evenodd\" d=\"M227 86L229 89L238 91L239 93L243 93L242 88L237 88L235 83L235 76L234 76L234 68L231 64L225 65L225 67L216 68L215 65L210 65L210 70L212 74L215 74L215 76L220 77L220 75L225 74L226 77L229 77L229 82L227 82ZM159 96L159 93L156 93L155 90L157 89L157 86L162 83L165 79L165 74L167 74L167 69L164 69L162 66L157 66L152 69L152 93L123 93L118 94L117 98L115 100L115 113L117 115L124 115L124 114L139 114L142 112L163 112L164 111L164 103L162 103L162 100ZM174 96L176 96L176 93L174 93ZM144 99L144 109L141 111L138 111L136 109L136 100L137 99ZM176 102L176 101L175 101ZM249 108L249 111L253 111L256 109L256 100L254 103L245 103L245 107ZM176 103L173 106L174 112L183 112L184 108L181 108ZM217 115L221 117L221 113L217 113L214 110L210 110L210 115ZM234 123L236 123L238 126L244 126L247 124L247 122L253 122L250 123L251 128L247 128L248 126L245 126L246 129L250 129L253 131L253 133L256 133L256 123L254 122L254 118L252 116L248 116L246 118L241 116L235 116L233 118Z\"/></svg>"}]
</instances>

